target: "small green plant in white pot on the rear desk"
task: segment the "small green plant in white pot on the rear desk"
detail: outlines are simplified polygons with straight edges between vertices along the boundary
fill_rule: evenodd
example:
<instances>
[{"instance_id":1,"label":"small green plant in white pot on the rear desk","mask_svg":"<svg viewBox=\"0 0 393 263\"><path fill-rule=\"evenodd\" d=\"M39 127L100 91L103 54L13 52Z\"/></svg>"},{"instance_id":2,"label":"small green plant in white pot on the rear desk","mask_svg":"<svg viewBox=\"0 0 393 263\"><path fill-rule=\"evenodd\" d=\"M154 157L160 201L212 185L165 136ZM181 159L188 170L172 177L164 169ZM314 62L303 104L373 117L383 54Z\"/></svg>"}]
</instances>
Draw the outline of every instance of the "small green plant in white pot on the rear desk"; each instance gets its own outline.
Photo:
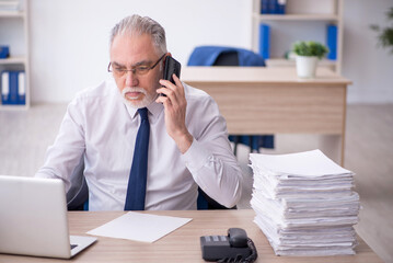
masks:
<instances>
[{"instance_id":1,"label":"small green plant in white pot on the rear desk","mask_svg":"<svg viewBox=\"0 0 393 263\"><path fill-rule=\"evenodd\" d=\"M292 52L297 55L297 72L300 78L314 78L319 59L324 57L328 49L317 42L297 42Z\"/></svg>"}]
</instances>

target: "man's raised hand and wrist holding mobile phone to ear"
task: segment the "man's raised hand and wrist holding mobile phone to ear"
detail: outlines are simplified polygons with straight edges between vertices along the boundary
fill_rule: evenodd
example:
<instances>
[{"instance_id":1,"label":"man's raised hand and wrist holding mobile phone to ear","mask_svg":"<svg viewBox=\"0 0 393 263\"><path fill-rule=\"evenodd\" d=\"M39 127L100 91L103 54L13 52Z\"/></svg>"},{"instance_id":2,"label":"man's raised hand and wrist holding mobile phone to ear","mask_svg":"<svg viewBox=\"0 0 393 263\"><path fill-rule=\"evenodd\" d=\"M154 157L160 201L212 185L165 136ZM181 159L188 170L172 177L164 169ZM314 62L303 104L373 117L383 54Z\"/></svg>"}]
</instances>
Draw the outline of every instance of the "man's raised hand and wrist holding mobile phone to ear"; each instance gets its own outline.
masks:
<instances>
[{"instance_id":1,"label":"man's raised hand and wrist holding mobile phone to ear","mask_svg":"<svg viewBox=\"0 0 393 263\"><path fill-rule=\"evenodd\" d=\"M184 153L193 144L193 136L185 124L187 101L184 87L175 75L173 75L173 79L175 84L169 80L160 80L160 84L163 87L157 92L166 96L159 96L155 102L164 105L166 132L176 142L180 151Z\"/></svg>"}]
</instances>

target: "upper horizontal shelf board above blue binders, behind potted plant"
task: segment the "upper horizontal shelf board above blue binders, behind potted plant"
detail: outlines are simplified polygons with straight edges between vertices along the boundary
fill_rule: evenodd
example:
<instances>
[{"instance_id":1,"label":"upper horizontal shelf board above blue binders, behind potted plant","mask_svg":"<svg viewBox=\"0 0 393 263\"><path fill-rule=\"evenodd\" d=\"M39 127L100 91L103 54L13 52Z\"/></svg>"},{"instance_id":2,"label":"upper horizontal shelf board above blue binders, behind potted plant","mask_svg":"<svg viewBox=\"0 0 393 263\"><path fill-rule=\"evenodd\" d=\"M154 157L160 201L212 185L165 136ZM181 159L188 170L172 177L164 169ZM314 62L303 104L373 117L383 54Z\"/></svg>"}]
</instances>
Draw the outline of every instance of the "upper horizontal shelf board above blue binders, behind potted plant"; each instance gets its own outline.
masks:
<instances>
[{"instance_id":1,"label":"upper horizontal shelf board above blue binders, behind potted plant","mask_svg":"<svg viewBox=\"0 0 393 263\"><path fill-rule=\"evenodd\" d=\"M262 21L338 21L336 14L254 14Z\"/></svg>"}]
</instances>

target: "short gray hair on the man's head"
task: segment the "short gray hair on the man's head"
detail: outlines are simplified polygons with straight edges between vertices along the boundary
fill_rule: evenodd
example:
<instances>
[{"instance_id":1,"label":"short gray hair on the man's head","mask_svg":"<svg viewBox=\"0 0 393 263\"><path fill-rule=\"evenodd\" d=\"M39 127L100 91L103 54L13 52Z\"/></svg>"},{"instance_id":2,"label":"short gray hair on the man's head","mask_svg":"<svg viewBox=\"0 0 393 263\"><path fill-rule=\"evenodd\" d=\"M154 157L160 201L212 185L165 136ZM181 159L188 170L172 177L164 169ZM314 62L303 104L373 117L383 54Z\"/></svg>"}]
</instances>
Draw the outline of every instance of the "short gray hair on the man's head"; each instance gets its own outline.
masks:
<instances>
[{"instance_id":1,"label":"short gray hair on the man's head","mask_svg":"<svg viewBox=\"0 0 393 263\"><path fill-rule=\"evenodd\" d=\"M134 14L124 18L112 28L109 46L112 46L112 43L117 35L125 34L128 34L129 36L135 34L149 34L158 54L166 53L165 30L158 22L148 16L142 18L138 14Z\"/></svg>"}]
</instances>

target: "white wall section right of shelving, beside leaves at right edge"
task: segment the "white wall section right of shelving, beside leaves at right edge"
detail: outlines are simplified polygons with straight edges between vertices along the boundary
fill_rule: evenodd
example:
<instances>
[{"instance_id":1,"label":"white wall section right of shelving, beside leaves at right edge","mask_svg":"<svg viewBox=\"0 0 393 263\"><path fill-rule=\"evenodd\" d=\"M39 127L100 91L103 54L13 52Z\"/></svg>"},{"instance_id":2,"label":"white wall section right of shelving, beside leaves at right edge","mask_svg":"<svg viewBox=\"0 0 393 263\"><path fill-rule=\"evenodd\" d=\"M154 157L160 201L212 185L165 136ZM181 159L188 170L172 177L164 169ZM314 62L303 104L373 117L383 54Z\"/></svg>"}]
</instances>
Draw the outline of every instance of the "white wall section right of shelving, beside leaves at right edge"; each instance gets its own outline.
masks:
<instances>
[{"instance_id":1,"label":"white wall section right of shelving, beside leaves at right edge","mask_svg":"<svg viewBox=\"0 0 393 263\"><path fill-rule=\"evenodd\" d=\"M345 0L343 76L352 80L348 102L393 102L393 53L377 47L370 24L388 26L392 0ZM390 23L392 25L392 23Z\"/></svg>"}]
</instances>

